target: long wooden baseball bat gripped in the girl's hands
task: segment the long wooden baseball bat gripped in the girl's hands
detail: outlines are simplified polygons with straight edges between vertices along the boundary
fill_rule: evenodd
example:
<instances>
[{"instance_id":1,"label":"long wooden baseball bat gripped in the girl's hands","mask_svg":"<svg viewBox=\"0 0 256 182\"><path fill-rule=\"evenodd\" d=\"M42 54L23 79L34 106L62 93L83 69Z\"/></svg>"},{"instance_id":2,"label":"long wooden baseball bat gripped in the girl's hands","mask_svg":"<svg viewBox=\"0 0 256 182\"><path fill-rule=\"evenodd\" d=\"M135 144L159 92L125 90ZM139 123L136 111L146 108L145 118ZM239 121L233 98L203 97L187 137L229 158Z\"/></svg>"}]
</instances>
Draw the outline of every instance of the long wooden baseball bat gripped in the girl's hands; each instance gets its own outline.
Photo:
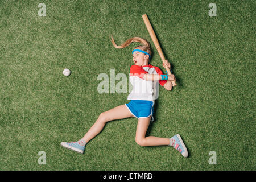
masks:
<instances>
[{"instance_id":1,"label":"long wooden baseball bat gripped in the girl's hands","mask_svg":"<svg viewBox=\"0 0 256 182\"><path fill-rule=\"evenodd\" d=\"M150 20L148 19L148 17L147 17L146 14L142 15L142 18L143 18L143 20L144 20L144 23L145 23L145 25L146 25L146 27L147 27L147 30L148 30L150 36L151 36L151 39L153 40L153 42L154 42L154 44L155 44L155 47L156 47L156 49L158 50L158 53L159 53L159 55L160 55L160 57L161 57L161 59L162 59L162 61L163 61L163 63L164 63L164 61L166 60L166 58L164 57L162 48L160 47L160 44L159 44L159 42L158 42L158 38L156 38L155 32L154 32L154 30L153 30L153 28L152 28L152 26L151 26ZM172 74L171 71L170 71L170 69L169 69L168 67L166 67L166 70L167 70L168 75L171 75L171 74ZM177 85L176 82L175 82L175 81L172 81L172 86L176 86L176 85Z\"/></svg>"}]
</instances>

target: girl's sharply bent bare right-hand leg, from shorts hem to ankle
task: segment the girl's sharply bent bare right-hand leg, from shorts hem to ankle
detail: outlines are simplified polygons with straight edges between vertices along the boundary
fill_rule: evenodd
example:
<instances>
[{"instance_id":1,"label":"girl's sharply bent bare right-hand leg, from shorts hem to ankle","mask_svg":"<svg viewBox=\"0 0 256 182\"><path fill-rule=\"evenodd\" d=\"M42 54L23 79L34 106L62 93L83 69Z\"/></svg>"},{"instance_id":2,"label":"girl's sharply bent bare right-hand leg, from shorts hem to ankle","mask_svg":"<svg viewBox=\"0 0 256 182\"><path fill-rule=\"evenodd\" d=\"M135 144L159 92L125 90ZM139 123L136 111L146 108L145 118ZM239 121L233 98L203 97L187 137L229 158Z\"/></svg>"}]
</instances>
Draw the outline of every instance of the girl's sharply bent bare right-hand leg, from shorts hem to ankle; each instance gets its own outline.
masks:
<instances>
[{"instance_id":1,"label":"girl's sharply bent bare right-hand leg, from shorts hem to ankle","mask_svg":"<svg viewBox=\"0 0 256 182\"><path fill-rule=\"evenodd\" d=\"M136 130L135 141L140 146L162 146L170 144L169 138L160 138L160 137L145 137L147 128L150 124L151 117L148 118L139 118L138 125Z\"/></svg>"}]
</instances>

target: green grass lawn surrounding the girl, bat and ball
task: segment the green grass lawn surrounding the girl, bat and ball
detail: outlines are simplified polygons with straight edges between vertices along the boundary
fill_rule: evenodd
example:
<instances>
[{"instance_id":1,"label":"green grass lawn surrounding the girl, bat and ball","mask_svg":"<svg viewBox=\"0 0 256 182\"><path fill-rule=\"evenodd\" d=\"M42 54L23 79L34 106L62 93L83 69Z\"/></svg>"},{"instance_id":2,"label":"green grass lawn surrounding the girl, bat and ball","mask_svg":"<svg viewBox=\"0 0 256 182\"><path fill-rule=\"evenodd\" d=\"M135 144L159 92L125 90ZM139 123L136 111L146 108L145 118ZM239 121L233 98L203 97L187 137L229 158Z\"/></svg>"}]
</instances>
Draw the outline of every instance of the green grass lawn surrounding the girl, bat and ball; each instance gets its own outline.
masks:
<instances>
[{"instance_id":1,"label":"green grass lawn surrounding the girl, bat and ball","mask_svg":"<svg viewBox=\"0 0 256 182\"><path fill-rule=\"evenodd\" d=\"M46 16L38 15L39 3ZM217 5L210 17L209 3ZM255 1L0 1L0 170L255 170ZM159 88L147 135L179 133L189 151L135 142L136 118L107 123L81 155L60 146L84 136L129 93L97 91L100 73L125 73L139 43L164 71L147 14L177 78ZM64 68L71 75L62 74ZM127 80L128 81L128 80ZM119 81L115 81L117 84ZM39 165L39 151L46 164ZM210 151L217 164L210 165Z\"/></svg>"}]
</instances>

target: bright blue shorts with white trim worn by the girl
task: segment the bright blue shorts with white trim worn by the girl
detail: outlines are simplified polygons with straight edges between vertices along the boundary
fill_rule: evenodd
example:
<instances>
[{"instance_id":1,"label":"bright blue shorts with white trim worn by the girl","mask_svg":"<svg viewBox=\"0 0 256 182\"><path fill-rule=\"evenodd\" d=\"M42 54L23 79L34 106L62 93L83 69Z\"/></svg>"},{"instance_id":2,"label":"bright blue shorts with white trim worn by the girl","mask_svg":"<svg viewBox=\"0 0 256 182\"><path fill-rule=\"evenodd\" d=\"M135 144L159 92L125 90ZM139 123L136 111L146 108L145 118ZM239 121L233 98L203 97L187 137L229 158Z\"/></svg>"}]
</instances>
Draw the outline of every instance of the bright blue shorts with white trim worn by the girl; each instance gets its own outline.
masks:
<instances>
[{"instance_id":1,"label":"bright blue shorts with white trim worn by the girl","mask_svg":"<svg viewBox=\"0 0 256 182\"><path fill-rule=\"evenodd\" d=\"M151 120L154 121L153 111L154 102L153 101L143 101L143 100L131 100L128 104L125 104L136 118L148 118L151 115Z\"/></svg>"}]
</instances>

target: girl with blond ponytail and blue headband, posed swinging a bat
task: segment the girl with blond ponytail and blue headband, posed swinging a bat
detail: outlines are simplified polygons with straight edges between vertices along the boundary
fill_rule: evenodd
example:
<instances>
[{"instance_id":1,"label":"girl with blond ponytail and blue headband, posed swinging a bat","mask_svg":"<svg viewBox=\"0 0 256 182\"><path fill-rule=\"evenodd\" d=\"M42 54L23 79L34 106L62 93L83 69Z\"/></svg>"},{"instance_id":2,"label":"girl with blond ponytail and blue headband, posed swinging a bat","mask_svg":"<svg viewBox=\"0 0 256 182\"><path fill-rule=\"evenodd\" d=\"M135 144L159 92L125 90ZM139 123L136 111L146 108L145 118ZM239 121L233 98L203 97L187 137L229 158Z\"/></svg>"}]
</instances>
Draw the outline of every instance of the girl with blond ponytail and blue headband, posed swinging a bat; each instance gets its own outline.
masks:
<instances>
[{"instance_id":1,"label":"girl with blond ponytail and blue headband, posed swinging a bat","mask_svg":"<svg viewBox=\"0 0 256 182\"><path fill-rule=\"evenodd\" d=\"M128 96L128 100L130 100L130 102L101 113L97 121L78 142L61 142L61 145L65 148L83 154L86 143L96 137L107 122L117 119L136 117L138 118L135 137L137 144L140 146L169 145L174 147L185 158L187 158L188 151L179 134L174 135L172 138L145 136L150 121L154 121L152 111L155 99L158 96L158 82L166 90L171 90L171 81L175 81L175 76L163 75L163 72L158 67L154 67L149 64L151 59L151 49L150 44L146 40L139 37L134 37L126 40L126 42L121 46L117 46L112 37L111 42L115 48L124 48L133 42L143 44L143 46L135 47L132 52L134 65L132 65L130 68L129 80L133 85L133 90ZM169 68L171 67L168 60L163 63L163 66L168 66Z\"/></svg>"}]
</instances>

